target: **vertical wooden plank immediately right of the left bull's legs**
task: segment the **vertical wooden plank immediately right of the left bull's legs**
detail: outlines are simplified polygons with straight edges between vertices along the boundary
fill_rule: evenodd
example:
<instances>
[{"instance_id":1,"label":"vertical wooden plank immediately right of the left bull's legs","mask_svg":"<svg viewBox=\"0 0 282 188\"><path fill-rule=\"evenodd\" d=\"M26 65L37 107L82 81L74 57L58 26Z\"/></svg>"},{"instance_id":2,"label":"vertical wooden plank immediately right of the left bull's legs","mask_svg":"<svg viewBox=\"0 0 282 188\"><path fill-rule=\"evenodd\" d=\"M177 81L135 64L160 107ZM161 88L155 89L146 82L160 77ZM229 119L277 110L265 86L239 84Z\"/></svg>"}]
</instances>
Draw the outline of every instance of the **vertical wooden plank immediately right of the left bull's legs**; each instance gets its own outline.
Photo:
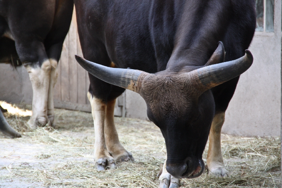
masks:
<instances>
[{"instance_id":1,"label":"vertical wooden plank immediately right of the left bull's legs","mask_svg":"<svg viewBox=\"0 0 282 188\"><path fill-rule=\"evenodd\" d=\"M61 53L61 100L69 102L69 34L63 43Z\"/></svg>"}]
</instances>

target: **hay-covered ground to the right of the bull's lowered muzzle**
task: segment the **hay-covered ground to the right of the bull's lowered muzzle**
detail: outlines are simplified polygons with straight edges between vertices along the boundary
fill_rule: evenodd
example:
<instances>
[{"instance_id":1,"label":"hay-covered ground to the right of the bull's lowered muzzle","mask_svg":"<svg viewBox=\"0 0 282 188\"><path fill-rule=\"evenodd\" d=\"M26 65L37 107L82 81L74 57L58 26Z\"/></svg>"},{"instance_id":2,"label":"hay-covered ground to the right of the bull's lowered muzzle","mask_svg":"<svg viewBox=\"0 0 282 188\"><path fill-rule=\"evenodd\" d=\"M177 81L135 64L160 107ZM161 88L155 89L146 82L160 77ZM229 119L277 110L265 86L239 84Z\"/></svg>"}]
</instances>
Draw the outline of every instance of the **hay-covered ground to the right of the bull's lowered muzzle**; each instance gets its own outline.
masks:
<instances>
[{"instance_id":1,"label":"hay-covered ground to the right of the bull's lowered muzzle","mask_svg":"<svg viewBox=\"0 0 282 188\"><path fill-rule=\"evenodd\" d=\"M187 187L281 187L280 138L222 135L222 156L230 176L184 180ZM206 147L203 158L208 152ZM202 184L204 182L204 184Z\"/></svg>"}]
</instances>

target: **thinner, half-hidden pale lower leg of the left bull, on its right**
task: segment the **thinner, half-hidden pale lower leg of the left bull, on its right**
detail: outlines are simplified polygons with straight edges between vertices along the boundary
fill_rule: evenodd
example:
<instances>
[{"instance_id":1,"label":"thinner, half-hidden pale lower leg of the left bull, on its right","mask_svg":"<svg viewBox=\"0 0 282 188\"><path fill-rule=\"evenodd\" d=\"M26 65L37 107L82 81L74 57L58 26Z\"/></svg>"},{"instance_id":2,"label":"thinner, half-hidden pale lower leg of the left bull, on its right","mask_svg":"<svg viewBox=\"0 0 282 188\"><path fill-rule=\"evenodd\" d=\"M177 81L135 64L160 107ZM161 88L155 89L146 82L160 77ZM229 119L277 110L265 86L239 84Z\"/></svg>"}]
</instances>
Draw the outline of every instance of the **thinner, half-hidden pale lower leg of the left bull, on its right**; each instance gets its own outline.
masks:
<instances>
[{"instance_id":1,"label":"thinner, half-hidden pale lower leg of the left bull, on its right","mask_svg":"<svg viewBox=\"0 0 282 188\"><path fill-rule=\"evenodd\" d=\"M54 126L54 87L58 78L57 65L58 62L55 59L50 60L50 81L48 89L47 98L47 117L49 119L50 125Z\"/></svg>"}]
</instances>

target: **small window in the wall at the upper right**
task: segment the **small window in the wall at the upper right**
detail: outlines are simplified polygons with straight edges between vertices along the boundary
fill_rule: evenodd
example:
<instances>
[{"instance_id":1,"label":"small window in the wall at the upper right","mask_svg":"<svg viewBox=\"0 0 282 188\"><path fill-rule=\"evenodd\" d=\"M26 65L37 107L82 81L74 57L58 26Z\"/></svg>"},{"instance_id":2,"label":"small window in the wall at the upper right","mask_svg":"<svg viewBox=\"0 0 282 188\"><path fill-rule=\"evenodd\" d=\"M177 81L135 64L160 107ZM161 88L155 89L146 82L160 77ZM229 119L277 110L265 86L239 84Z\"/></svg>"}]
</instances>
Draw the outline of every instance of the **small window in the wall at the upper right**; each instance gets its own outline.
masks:
<instances>
[{"instance_id":1,"label":"small window in the wall at the upper right","mask_svg":"<svg viewBox=\"0 0 282 188\"><path fill-rule=\"evenodd\" d=\"M274 0L256 0L256 31L274 32Z\"/></svg>"}]
</instances>

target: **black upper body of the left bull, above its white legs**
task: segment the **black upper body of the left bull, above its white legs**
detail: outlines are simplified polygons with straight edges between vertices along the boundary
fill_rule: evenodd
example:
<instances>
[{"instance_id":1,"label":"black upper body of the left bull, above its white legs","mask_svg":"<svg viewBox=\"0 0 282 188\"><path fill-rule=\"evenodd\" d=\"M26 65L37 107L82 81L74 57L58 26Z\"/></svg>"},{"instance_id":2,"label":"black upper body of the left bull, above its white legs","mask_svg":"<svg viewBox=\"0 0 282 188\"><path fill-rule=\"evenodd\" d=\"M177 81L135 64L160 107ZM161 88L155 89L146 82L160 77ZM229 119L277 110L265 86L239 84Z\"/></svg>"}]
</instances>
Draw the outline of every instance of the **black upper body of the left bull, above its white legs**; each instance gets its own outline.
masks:
<instances>
[{"instance_id":1,"label":"black upper body of the left bull, above its white legs","mask_svg":"<svg viewBox=\"0 0 282 188\"><path fill-rule=\"evenodd\" d=\"M59 60L72 18L73 0L0 1L0 63L39 67Z\"/></svg>"}]
</instances>

